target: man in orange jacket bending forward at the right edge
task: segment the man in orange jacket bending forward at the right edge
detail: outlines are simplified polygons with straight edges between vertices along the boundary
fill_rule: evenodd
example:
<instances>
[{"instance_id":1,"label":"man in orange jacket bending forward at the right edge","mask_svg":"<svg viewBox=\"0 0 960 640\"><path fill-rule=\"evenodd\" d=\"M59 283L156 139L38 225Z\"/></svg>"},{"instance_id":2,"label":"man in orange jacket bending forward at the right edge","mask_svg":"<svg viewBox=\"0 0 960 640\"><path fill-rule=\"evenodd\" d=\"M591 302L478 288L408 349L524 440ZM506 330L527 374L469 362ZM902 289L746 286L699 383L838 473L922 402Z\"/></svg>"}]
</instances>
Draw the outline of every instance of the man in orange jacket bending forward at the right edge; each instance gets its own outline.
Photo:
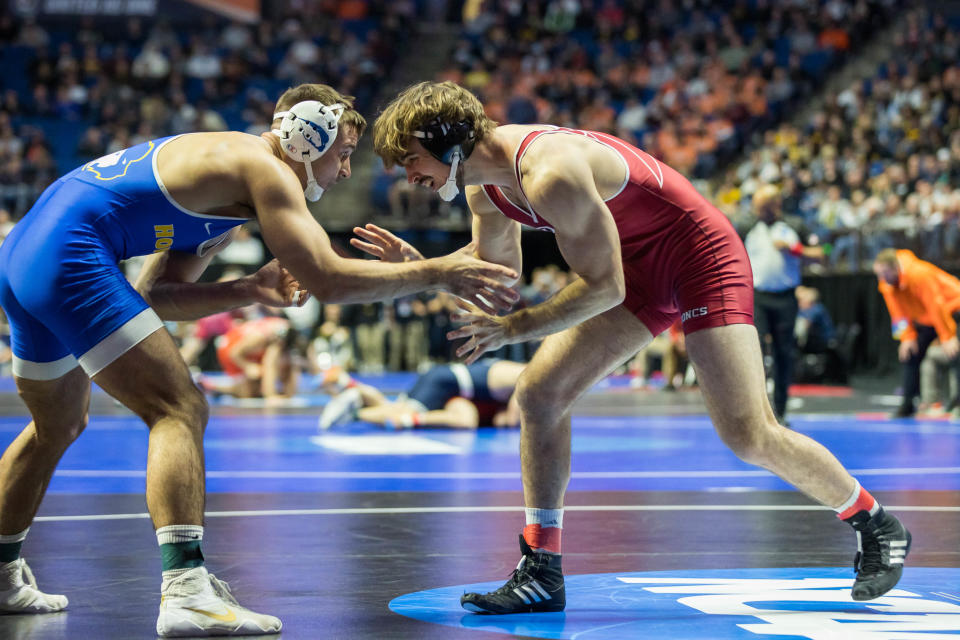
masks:
<instances>
[{"instance_id":1,"label":"man in orange jacket bending forward at the right edge","mask_svg":"<svg viewBox=\"0 0 960 640\"><path fill-rule=\"evenodd\" d=\"M920 392L920 363L937 338L953 361L960 382L960 280L907 249L881 251L874 260L873 272L890 311L893 337L900 340L903 403L893 417L905 418L916 412L913 401ZM951 401L950 409L952 417L960 418L960 398Z\"/></svg>"}]
</instances>

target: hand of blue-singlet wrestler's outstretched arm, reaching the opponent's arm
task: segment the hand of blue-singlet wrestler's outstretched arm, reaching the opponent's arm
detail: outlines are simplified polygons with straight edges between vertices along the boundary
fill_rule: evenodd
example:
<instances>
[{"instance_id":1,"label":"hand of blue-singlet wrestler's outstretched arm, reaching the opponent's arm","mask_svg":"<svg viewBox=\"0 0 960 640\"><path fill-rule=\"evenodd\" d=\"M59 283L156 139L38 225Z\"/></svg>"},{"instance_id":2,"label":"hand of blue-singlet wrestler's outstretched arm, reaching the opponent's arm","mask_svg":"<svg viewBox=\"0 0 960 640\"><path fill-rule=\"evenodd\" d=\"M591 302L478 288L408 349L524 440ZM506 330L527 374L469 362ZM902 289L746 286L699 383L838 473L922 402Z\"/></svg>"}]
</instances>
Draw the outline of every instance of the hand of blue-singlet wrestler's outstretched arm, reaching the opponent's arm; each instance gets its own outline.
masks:
<instances>
[{"instance_id":1,"label":"hand of blue-singlet wrestler's outstretched arm, reaching the opponent's arm","mask_svg":"<svg viewBox=\"0 0 960 640\"><path fill-rule=\"evenodd\" d=\"M480 260L474 256L476 245L471 242L459 251L442 258L444 287L464 300L476 305L481 311L496 313L507 311L520 299L520 294L510 288L517 279L517 272L509 267Z\"/></svg>"}]
</instances>

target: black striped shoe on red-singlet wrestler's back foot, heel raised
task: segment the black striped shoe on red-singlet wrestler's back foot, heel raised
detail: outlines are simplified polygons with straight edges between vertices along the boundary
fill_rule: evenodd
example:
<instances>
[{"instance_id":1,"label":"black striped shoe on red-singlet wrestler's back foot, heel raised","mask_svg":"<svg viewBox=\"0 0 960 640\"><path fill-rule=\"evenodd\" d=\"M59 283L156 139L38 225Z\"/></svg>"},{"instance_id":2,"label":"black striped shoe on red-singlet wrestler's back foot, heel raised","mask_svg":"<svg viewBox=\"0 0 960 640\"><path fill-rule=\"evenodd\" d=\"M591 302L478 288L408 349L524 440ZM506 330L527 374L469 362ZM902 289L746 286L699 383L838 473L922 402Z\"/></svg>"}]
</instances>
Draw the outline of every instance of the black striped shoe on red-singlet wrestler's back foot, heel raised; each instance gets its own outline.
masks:
<instances>
[{"instance_id":1,"label":"black striped shoe on red-singlet wrestler's back foot, heel raised","mask_svg":"<svg viewBox=\"0 0 960 640\"><path fill-rule=\"evenodd\" d=\"M853 568L854 600L873 600L893 589L903 574L903 561L910 552L910 532L883 510L870 516L866 511L847 520L857 531L857 555Z\"/></svg>"}]
</instances>

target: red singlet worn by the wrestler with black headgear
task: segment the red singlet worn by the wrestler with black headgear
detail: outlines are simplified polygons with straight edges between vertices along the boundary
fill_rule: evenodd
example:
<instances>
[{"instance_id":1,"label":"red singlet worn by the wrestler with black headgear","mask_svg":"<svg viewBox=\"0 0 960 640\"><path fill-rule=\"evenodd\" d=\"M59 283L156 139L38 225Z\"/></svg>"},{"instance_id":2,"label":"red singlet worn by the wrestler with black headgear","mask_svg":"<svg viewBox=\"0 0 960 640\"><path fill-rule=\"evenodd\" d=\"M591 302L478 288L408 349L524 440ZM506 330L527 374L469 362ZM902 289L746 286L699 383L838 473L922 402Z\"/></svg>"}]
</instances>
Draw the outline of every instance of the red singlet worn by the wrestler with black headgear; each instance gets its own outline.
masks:
<instances>
[{"instance_id":1,"label":"red singlet worn by the wrestler with black headgear","mask_svg":"<svg viewBox=\"0 0 960 640\"><path fill-rule=\"evenodd\" d=\"M560 127L533 131L524 137L514 158L521 192L524 153L540 136L554 134L596 140L626 164L627 179L606 205L620 234L627 286L624 305L650 333L658 335L678 315L685 333L753 323L753 274L730 221L686 178L645 151L595 131ZM499 187L483 185L483 190L508 218L554 231L548 220L516 206Z\"/></svg>"}]
</instances>

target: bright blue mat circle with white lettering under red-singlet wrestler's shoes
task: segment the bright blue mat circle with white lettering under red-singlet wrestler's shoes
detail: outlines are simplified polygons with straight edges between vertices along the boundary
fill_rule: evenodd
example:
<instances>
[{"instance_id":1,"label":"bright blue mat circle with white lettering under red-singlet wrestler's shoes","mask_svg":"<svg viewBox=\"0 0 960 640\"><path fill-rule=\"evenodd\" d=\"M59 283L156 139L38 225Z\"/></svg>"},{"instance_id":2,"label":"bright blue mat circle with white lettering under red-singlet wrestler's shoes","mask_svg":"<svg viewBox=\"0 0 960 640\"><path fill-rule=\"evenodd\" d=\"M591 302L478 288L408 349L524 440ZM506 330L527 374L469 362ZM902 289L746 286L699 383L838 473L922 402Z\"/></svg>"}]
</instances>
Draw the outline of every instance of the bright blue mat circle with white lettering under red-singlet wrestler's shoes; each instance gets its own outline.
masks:
<instances>
[{"instance_id":1,"label":"bright blue mat circle with white lettering under red-singlet wrestler's shoes","mask_svg":"<svg viewBox=\"0 0 960 640\"><path fill-rule=\"evenodd\" d=\"M503 582L418 591L390 610L447 627L574 640L923 640L960 638L960 569L908 568L894 591L850 599L851 569L794 568L652 571L566 577L561 613L478 615L459 604L465 591Z\"/></svg>"}]
</instances>

